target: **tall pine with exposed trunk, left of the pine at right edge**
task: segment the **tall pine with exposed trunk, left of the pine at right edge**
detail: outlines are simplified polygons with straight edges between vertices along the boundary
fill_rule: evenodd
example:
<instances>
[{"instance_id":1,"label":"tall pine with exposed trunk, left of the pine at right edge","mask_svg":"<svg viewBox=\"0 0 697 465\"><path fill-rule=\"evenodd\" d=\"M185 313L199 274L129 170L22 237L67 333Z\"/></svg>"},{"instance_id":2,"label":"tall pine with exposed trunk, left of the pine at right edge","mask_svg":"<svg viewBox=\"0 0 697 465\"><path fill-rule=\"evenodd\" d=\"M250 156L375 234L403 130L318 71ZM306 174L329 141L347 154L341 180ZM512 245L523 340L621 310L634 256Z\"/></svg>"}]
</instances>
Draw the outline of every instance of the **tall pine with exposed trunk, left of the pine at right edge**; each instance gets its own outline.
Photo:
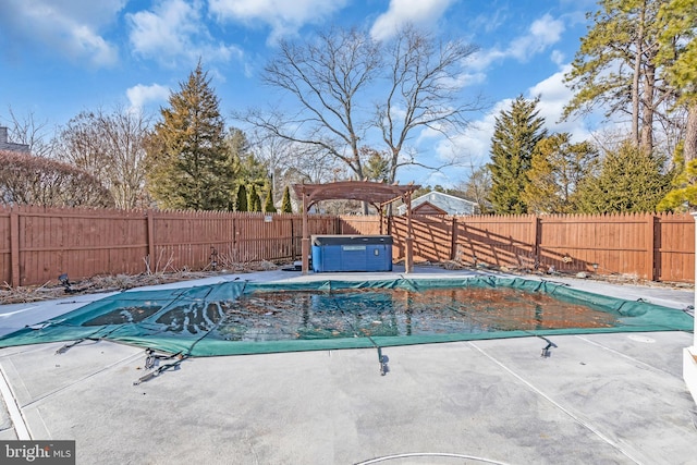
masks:
<instances>
[{"instance_id":1,"label":"tall pine with exposed trunk, left of the pine at right edge","mask_svg":"<svg viewBox=\"0 0 697 465\"><path fill-rule=\"evenodd\" d=\"M692 0L690 0L692 1ZM631 117L632 140L653 150L653 124L669 90L659 73L659 10L667 0L598 0L599 9L566 73L575 91L564 118L604 108L608 118Z\"/></svg>"}]
</instances>

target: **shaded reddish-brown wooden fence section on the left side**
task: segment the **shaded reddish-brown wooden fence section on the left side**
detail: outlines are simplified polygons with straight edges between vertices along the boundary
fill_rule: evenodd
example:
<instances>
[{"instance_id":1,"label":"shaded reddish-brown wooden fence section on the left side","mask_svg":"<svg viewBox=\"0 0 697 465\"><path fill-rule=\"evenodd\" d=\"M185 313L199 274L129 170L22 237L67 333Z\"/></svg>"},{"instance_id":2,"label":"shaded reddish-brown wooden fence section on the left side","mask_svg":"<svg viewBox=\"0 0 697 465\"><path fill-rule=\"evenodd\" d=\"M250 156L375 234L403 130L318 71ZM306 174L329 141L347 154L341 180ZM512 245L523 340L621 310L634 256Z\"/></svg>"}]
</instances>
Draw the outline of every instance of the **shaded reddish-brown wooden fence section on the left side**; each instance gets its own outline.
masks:
<instances>
[{"instance_id":1,"label":"shaded reddish-brown wooden fence section on the left side","mask_svg":"<svg viewBox=\"0 0 697 465\"><path fill-rule=\"evenodd\" d=\"M0 208L0 282L295 260L302 223L301 215ZM339 219L311 216L309 231L337 234Z\"/></svg>"}]
</instances>

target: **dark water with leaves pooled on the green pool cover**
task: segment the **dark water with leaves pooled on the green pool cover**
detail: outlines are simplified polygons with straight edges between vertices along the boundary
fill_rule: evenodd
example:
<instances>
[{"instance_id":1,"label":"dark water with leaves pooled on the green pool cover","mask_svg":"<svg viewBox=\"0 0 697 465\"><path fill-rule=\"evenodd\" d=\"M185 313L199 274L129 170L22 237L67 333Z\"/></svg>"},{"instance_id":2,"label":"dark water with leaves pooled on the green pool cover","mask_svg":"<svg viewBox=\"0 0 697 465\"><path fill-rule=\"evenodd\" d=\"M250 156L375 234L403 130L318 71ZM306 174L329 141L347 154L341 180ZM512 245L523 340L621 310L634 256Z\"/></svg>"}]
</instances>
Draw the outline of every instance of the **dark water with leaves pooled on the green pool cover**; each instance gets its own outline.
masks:
<instances>
[{"instance_id":1,"label":"dark water with leaves pooled on the green pool cover","mask_svg":"<svg viewBox=\"0 0 697 465\"><path fill-rule=\"evenodd\" d=\"M139 322L160 306L130 306L86 326ZM545 293L509 287L256 291L235 301L173 305L157 323L169 333L215 329L228 341L411 336L609 328L615 316Z\"/></svg>"}]
</instances>

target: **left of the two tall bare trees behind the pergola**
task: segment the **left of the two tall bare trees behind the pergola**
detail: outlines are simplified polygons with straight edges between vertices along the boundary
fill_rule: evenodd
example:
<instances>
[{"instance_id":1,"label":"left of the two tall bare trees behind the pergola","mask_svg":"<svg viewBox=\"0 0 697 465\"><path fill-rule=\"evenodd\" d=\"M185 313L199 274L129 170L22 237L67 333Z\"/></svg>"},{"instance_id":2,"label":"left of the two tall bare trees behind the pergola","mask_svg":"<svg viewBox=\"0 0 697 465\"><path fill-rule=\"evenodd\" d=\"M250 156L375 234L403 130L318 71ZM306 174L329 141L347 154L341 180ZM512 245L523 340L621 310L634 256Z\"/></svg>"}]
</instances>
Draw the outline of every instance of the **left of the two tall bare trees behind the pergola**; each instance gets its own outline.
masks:
<instances>
[{"instance_id":1,"label":"left of the two tall bare trees behind the pergola","mask_svg":"<svg viewBox=\"0 0 697 465\"><path fill-rule=\"evenodd\" d=\"M359 179L358 142L368 125L359 97L380 66L378 44L356 29L330 29L307 42L281 41L261 81L289 95L298 110L247 112L243 119L291 142L313 146L345 163Z\"/></svg>"}]
</instances>

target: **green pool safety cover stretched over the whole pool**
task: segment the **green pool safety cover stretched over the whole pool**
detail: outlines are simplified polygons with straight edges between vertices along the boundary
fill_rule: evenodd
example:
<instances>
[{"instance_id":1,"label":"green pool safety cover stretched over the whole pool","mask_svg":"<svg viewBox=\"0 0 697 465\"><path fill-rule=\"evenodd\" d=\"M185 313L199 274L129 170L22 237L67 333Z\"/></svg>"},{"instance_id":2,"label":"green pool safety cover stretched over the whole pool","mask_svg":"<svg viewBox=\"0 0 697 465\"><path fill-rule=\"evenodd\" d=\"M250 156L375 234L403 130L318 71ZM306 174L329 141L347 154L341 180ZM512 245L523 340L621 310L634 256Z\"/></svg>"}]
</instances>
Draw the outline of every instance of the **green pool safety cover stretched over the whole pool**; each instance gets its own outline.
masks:
<instances>
[{"instance_id":1,"label":"green pool safety cover stretched over the whole pool","mask_svg":"<svg viewBox=\"0 0 697 465\"><path fill-rule=\"evenodd\" d=\"M109 340L217 356L693 328L680 309L519 278L233 281L122 292L0 338L0 347Z\"/></svg>"}]
</instances>

